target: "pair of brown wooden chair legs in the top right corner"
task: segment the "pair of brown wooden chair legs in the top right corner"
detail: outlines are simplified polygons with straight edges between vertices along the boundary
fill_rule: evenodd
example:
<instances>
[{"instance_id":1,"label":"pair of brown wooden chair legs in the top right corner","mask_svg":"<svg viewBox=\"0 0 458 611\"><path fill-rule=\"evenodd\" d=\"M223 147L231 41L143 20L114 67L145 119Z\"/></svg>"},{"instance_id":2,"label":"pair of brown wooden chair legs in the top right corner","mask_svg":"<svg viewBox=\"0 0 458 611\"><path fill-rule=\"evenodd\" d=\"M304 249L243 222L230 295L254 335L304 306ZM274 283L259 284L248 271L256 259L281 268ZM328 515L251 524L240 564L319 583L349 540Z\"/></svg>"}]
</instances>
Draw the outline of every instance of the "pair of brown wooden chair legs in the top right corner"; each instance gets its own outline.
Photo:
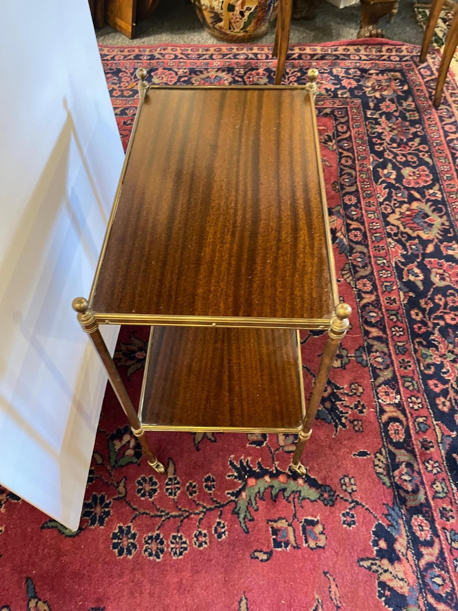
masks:
<instances>
[{"instance_id":1,"label":"pair of brown wooden chair legs in the top right corner","mask_svg":"<svg viewBox=\"0 0 458 611\"><path fill-rule=\"evenodd\" d=\"M429 43L431 42L434 29L437 24L437 20L442 10L443 5L446 5L450 10L455 13L450 26L450 29L445 40L445 47L443 48L442 60L440 62L439 74L437 77L436 89L434 92L434 106L439 106L442 100L442 91L444 88L445 79L447 76L448 68L452 60L453 54L458 46L458 4L451 2L451 0L433 0L431 4L431 10L429 12L429 18L424 31L423 43L421 43L420 62L423 63L426 59Z\"/></svg>"}]
</instances>

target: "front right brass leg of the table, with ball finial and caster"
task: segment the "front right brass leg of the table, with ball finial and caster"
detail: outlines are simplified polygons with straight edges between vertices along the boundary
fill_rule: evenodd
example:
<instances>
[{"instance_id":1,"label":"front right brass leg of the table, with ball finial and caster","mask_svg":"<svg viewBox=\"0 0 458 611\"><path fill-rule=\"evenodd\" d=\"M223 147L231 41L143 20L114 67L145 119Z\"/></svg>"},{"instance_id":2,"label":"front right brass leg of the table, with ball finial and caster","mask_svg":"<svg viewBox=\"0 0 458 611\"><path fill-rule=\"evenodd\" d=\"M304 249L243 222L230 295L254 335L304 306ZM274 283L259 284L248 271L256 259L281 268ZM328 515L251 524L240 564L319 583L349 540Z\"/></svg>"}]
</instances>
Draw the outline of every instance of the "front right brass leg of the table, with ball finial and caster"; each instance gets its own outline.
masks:
<instances>
[{"instance_id":1,"label":"front right brass leg of the table, with ball finial and caster","mask_svg":"<svg viewBox=\"0 0 458 611\"><path fill-rule=\"evenodd\" d=\"M349 316L352 309L348 304L338 304L335 308L335 314L331 318L331 323L328 331L328 339L324 348L321 363L319 364L318 374L315 379L315 384L308 402L307 412L305 413L304 422L299 431L299 439L297 439L296 450L294 450L293 461L289 468L300 475L305 475L307 469L300 462L300 456L304 450L305 442L310 439L311 425L318 411L324 387L329 378L329 371L334 362L340 340L344 337L349 327Z\"/></svg>"}]
</instances>

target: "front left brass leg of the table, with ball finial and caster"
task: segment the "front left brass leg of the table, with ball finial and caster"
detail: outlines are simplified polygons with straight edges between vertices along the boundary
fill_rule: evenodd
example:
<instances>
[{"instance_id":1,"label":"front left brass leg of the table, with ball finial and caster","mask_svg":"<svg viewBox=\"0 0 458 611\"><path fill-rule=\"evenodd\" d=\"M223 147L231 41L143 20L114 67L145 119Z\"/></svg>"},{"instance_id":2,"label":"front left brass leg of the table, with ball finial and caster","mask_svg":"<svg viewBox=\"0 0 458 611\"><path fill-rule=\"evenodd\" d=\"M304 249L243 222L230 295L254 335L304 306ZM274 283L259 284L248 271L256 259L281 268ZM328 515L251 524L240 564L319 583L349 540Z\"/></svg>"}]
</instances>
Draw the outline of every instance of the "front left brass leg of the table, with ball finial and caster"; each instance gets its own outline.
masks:
<instances>
[{"instance_id":1,"label":"front left brass leg of the table, with ball finial and caster","mask_svg":"<svg viewBox=\"0 0 458 611\"><path fill-rule=\"evenodd\" d=\"M78 312L77 318L79 324L81 324L84 331L89 335L94 348L98 352L106 368L111 386L113 387L118 401L120 402L121 407L129 420L132 432L142 446L142 450L144 455L147 457L148 464L158 473L165 473L164 465L159 463L156 455L154 455L154 452L152 452L150 448L150 444L148 444L147 438L145 437L145 430L140 423L139 417L137 416L137 412L135 411L132 401L130 400L126 387L120 378L116 365L114 364L111 354L109 353L103 337L101 336L95 316L92 310L89 310L87 301L82 297L77 297L76 299L73 299L71 306L75 312Z\"/></svg>"}]
</instances>

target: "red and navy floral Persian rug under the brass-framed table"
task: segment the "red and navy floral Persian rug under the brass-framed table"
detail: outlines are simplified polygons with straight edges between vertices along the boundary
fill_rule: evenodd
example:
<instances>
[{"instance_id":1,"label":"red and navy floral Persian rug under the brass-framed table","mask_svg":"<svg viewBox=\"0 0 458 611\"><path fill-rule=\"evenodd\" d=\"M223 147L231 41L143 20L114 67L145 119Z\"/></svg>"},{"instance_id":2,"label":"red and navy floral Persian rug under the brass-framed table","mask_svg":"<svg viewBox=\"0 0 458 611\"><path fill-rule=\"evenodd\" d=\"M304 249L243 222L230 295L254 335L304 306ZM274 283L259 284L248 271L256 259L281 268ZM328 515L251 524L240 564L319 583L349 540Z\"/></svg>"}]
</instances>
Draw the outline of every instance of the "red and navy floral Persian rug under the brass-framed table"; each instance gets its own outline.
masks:
<instances>
[{"instance_id":1,"label":"red and navy floral Persian rug under the brass-framed table","mask_svg":"<svg viewBox=\"0 0 458 611\"><path fill-rule=\"evenodd\" d=\"M295 46L318 125L340 295L354 308L304 462L294 438L151 434L140 458L107 389L78 532L0 491L1 611L458 609L458 89L438 56L374 40ZM135 70L156 83L273 82L271 48L101 48L123 140ZM305 382L324 345L303 334ZM123 328L131 396L147 331ZM205 409L205 406L202 406Z\"/></svg>"}]
</instances>

